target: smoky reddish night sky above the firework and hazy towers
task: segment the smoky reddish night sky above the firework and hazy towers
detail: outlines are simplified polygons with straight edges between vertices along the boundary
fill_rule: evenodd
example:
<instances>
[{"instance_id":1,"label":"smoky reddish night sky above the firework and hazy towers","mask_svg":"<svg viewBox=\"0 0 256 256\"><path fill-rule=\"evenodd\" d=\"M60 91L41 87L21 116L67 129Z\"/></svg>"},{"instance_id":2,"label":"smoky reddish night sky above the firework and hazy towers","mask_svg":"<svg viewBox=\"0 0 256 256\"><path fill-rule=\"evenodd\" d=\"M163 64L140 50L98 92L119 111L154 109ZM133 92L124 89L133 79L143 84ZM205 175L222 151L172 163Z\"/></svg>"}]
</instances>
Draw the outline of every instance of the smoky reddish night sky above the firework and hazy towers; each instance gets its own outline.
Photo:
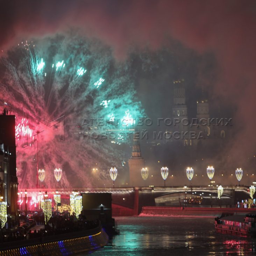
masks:
<instances>
[{"instance_id":1,"label":"smoky reddish night sky above the firework and hazy towers","mask_svg":"<svg viewBox=\"0 0 256 256\"><path fill-rule=\"evenodd\" d=\"M141 108L141 114L154 120L170 117L173 80L184 79L189 116L195 116L197 100L208 98L211 117L233 118L233 127L229 127L231 135L225 145L214 151L214 161L219 161L224 170L232 166L234 171L243 165L251 173L255 172L255 1L1 1L0 6L2 59L11 59L13 63L21 58L22 54L14 50L21 41L34 40L38 47L43 45L48 49L50 56L51 42L61 45L62 39L58 37L69 38L71 42L74 38L76 45L81 37L81 42L90 41L88 49L95 52L95 56L104 52L105 59L110 59L106 61L110 63L106 77L112 80L115 76L121 77L121 71L116 70L122 67L122 72L128 74L133 84L130 90L135 94L129 95L138 102L136 106ZM72 54L73 48L70 50ZM91 66L93 68L94 64ZM5 88L2 91L5 93L0 93L0 99L5 102L12 98L14 87L5 86L6 71L1 67L0 88ZM129 87L128 79L126 81ZM73 97L75 100L76 95ZM14 98L17 99L17 95ZM23 103L22 99L19 105L8 102L29 108ZM81 115L79 118L82 120ZM67 128L67 131L71 130ZM150 163L152 154L157 158L145 142L141 144L146 161L148 158ZM130 147L120 148L125 151L120 157L127 161ZM118 149L111 151L113 159L115 150ZM161 150L164 149L159 152ZM88 156L88 170L93 167L96 151ZM175 150L172 148L172 151ZM159 152L157 154L163 155ZM206 157L210 159L208 153ZM169 157L168 154L165 156ZM104 162L104 153L96 158ZM113 159L108 159L105 169L115 161ZM60 161L58 157L56 161ZM80 165L84 164L82 158L79 161ZM116 161L120 162L120 159ZM166 161L167 164L171 162L173 160ZM65 166L62 168L66 170L74 168ZM28 167L20 168L27 170ZM96 184L90 176L85 174L81 178L87 184ZM63 185L68 186L68 175L64 180Z\"/></svg>"}]
</instances>

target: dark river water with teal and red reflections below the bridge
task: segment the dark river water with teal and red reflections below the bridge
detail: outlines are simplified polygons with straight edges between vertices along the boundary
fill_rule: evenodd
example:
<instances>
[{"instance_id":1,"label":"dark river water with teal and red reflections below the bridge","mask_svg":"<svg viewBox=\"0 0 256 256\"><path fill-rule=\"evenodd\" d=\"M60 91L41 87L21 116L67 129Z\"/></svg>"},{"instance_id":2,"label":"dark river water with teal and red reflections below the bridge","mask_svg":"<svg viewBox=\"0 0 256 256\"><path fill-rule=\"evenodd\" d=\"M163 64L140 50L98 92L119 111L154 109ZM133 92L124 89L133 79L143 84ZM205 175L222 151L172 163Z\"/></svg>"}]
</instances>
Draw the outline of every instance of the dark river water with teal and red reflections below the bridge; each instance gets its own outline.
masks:
<instances>
[{"instance_id":1,"label":"dark river water with teal and red reflections below the bridge","mask_svg":"<svg viewBox=\"0 0 256 256\"><path fill-rule=\"evenodd\" d=\"M119 217L120 235L95 255L255 255L255 240L219 234L210 218Z\"/></svg>"}]
</instances>

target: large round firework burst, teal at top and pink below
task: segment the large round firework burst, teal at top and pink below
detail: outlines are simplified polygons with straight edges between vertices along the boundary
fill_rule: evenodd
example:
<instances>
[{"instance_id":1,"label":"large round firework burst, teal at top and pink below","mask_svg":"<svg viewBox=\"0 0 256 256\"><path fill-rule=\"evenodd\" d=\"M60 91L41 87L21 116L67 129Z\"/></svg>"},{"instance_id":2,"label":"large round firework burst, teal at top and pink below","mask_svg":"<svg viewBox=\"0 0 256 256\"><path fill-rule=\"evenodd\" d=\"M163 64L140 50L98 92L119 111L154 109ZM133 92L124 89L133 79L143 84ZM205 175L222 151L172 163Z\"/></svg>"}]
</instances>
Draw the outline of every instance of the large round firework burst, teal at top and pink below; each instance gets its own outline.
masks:
<instances>
[{"instance_id":1,"label":"large round firework burst, teal at top and pink below","mask_svg":"<svg viewBox=\"0 0 256 256\"><path fill-rule=\"evenodd\" d=\"M79 130L77 125L81 125L84 118L107 120L115 117L122 120L128 110L132 118L144 114L140 102L134 101L129 64L116 64L111 50L105 45L78 36L45 38L35 44L33 48L28 46L29 50L10 49L8 57L0 59L1 100L16 109L13 114L17 115L17 124L24 118L23 108L48 121L65 115L65 141L59 139L58 126L48 128L30 118L29 127L33 132L44 131L29 142L31 147L23 148L22 143L17 143L20 187L35 184L35 143L38 139L39 166L45 170L43 184L47 187L90 186L95 182L91 177L95 163L101 170L97 180L109 179L108 168L112 164L121 168L124 159L117 144L127 141L116 139L118 143L113 144L108 140L82 140L74 133L100 133L111 128L109 125L83 126ZM100 78L97 88L94 84ZM123 129L120 124L118 128ZM63 170L58 184L54 179L55 168Z\"/></svg>"}]
</instances>

